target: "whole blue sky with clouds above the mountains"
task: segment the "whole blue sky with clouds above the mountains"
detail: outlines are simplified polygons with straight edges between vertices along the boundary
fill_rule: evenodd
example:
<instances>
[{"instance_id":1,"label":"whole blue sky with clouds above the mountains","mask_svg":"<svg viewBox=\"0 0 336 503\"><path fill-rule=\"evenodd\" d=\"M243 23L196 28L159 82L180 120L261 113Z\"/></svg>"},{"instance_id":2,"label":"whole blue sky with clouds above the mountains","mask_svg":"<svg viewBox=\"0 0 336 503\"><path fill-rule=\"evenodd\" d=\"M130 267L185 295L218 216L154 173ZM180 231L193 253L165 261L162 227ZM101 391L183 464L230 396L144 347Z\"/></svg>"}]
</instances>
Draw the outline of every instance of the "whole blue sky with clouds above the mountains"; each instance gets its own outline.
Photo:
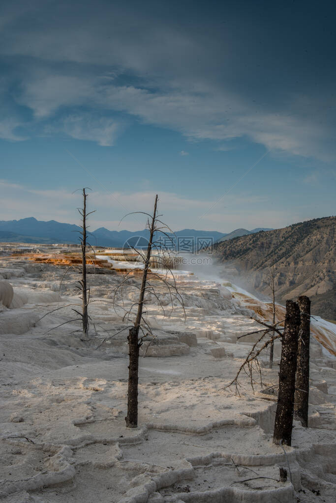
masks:
<instances>
[{"instance_id":1,"label":"whole blue sky with clouds above the mountains","mask_svg":"<svg viewBox=\"0 0 336 503\"><path fill-rule=\"evenodd\" d=\"M334 214L334 11L2 3L0 219L76 223L82 186L94 228L120 228L155 193L174 230Z\"/></svg>"}]
</instances>

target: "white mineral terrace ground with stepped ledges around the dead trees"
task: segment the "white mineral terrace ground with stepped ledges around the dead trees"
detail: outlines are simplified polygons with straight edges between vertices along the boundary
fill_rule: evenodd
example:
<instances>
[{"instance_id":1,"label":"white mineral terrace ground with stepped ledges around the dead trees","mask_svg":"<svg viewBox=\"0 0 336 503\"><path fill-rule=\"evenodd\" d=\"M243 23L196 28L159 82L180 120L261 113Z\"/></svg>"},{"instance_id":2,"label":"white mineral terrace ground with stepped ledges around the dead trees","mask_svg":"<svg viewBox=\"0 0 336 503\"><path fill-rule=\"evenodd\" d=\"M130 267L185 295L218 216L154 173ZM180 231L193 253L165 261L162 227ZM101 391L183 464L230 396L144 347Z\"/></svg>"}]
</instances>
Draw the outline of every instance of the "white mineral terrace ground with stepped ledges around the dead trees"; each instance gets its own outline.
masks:
<instances>
[{"instance_id":1,"label":"white mineral terrace ground with stepped ledges around the dead trees","mask_svg":"<svg viewBox=\"0 0 336 503\"><path fill-rule=\"evenodd\" d=\"M97 258L115 269L143 267L122 255L112 249ZM226 281L225 270L183 262L172 274L186 317L159 280L165 312L146 297L154 339L141 348L139 427L126 429L130 322L123 316L137 302L140 278L130 276L121 291L123 274L88 275L85 342L73 311L80 276L72 269L64 276L66 269L0 261L0 501L334 501L336 325L313 320L309 428L294 422L292 447L275 446L279 341L272 370L268 355L261 358L263 386L255 374L254 391L246 376L240 397L225 389L256 340L239 336L259 329L251 316L270 319L270 305ZM286 482L279 467L288 470Z\"/></svg>"}]
</instances>

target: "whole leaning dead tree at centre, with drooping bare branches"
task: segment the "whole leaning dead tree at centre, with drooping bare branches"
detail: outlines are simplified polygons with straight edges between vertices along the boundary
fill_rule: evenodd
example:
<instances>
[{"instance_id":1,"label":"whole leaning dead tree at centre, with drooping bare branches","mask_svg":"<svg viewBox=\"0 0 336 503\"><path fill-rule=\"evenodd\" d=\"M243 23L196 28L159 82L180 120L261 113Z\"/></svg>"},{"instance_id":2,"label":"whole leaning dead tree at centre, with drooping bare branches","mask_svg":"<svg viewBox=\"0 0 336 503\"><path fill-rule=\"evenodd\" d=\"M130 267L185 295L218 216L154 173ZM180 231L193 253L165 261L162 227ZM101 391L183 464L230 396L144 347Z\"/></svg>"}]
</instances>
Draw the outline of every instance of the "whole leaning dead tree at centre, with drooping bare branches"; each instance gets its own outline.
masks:
<instances>
[{"instance_id":1,"label":"whole leaning dead tree at centre, with drooping bare branches","mask_svg":"<svg viewBox=\"0 0 336 503\"><path fill-rule=\"evenodd\" d=\"M128 356L129 356L129 366L128 366L128 391L127 391L127 415L125 417L125 422L126 422L126 427L127 428L137 428L138 426L138 381L139 381L139 352L140 348L143 345L144 339L149 336L153 336L153 333L151 331L151 328L147 321L144 318L144 311L146 310L145 307L145 294L151 294L153 295L158 303L159 306L162 308L163 313L165 315L165 310L163 308L163 305L160 301L159 296L157 295L155 291L154 285L149 281L148 279L148 273L150 272L150 265L153 262L153 257L152 257L152 251L155 249L157 252L159 250L163 251L167 254L167 248L164 247L162 244L158 243L157 241L154 240L154 236L157 233L163 233L165 236L168 236L168 234L163 230L163 229L168 229L170 232L171 229L164 224L161 220L159 220L159 216L157 214L157 203L158 203L158 196L156 195L155 197L155 203L154 203L154 211L153 214L150 215L145 212L137 212L137 213L143 213L148 216L147 220L147 227L149 228L150 231L150 237L148 241L148 246L147 246L147 252L146 255L143 255L140 250L137 250L136 248L133 248L141 257L141 260L144 262L144 269L143 269L143 274L142 274L142 281L141 281L141 286L140 286L140 292L139 292L139 299L138 302L133 304L130 309L125 310L124 318L126 317L127 320L129 320L132 317L132 308L137 306L137 312L135 315L135 320L133 321L133 326L129 329L128 332ZM156 265L159 266L161 264L160 262L160 255L156 256L157 263ZM160 263L160 264L159 264ZM172 282L169 282L166 278L160 276L159 274L153 273L151 271L151 278L160 280L163 282L163 284L167 287L170 299L171 299L171 305L173 308L173 299L177 299L180 305L183 307L184 311L184 306L183 306L183 300L180 294L177 291L176 283L174 276L172 274L172 271L169 266L165 264L164 257L162 258L162 265L163 267L168 270L171 273L172 276ZM122 288L124 284L127 282L129 279L128 274L125 275L124 280L118 285L117 289L115 290L114 293L114 299L117 291L121 288L121 295L122 295ZM135 286L135 285L132 285ZM115 300L113 299L113 303L115 304ZM184 313L185 314L185 313Z\"/></svg>"}]
</instances>

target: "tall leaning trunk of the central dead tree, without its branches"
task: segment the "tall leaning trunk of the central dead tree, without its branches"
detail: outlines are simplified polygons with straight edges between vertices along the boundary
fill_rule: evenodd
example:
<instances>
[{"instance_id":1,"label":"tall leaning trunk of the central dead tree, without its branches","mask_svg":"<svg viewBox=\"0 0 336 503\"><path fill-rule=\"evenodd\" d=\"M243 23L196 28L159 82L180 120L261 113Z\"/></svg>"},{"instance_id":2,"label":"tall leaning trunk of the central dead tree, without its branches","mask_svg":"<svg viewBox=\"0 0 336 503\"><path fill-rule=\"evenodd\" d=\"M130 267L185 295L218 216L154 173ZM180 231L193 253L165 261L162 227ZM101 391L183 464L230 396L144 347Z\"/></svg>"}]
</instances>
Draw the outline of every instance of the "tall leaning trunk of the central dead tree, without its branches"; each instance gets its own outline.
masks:
<instances>
[{"instance_id":1,"label":"tall leaning trunk of the central dead tree, without its branches","mask_svg":"<svg viewBox=\"0 0 336 503\"><path fill-rule=\"evenodd\" d=\"M158 196L156 195L154 203L154 212L150 226L150 238L147 247L144 273L141 282L137 317L134 326L129 330L127 338L129 348L127 415L125 417L127 428L137 428L138 426L138 370L139 370L139 349L141 346L141 342L139 342L139 330L143 315L147 273L149 269L151 252L152 252L157 202L158 202Z\"/></svg>"}]
</instances>

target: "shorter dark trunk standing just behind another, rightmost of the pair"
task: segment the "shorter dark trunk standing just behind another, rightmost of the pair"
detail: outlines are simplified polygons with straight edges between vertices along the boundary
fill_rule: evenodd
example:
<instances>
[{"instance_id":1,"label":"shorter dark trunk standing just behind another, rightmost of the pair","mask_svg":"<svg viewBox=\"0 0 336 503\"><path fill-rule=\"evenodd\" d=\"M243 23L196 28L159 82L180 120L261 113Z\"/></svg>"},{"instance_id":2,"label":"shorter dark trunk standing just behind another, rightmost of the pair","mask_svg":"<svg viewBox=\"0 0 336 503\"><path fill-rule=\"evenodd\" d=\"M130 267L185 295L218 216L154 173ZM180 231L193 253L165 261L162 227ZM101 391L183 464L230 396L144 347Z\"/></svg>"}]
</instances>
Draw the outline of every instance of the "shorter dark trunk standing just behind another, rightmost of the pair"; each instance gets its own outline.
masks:
<instances>
[{"instance_id":1,"label":"shorter dark trunk standing just behind another, rightmost of the pair","mask_svg":"<svg viewBox=\"0 0 336 503\"><path fill-rule=\"evenodd\" d=\"M305 295L298 298L300 308L300 329L296 384L294 398L294 418L308 428L309 401L309 343L310 343L310 300Z\"/></svg>"}]
</instances>

